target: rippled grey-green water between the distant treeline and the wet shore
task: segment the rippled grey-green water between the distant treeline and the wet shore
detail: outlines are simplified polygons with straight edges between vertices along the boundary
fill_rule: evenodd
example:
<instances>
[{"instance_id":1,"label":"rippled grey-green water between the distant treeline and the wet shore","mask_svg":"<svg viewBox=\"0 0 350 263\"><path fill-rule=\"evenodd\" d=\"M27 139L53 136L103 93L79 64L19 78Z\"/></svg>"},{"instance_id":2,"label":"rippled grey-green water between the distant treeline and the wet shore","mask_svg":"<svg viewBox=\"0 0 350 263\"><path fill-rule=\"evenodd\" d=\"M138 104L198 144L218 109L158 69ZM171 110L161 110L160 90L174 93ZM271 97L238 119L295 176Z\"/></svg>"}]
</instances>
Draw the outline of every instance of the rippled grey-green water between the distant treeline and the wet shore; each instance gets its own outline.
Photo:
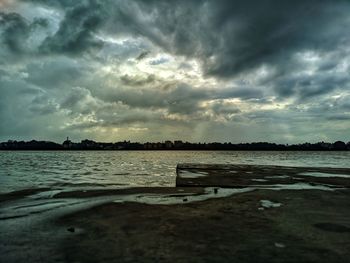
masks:
<instances>
[{"instance_id":1,"label":"rippled grey-green water between the distant treeline and the wet shore","mask_svg":"<svg viewBox=\"0 0 350 263\"><path fill-rule=\"evenodd\" d=\"M31 187L173 186L178 163L348 167L350 152L0 152L0 193Z\"/></svg>"}]
</instances>

